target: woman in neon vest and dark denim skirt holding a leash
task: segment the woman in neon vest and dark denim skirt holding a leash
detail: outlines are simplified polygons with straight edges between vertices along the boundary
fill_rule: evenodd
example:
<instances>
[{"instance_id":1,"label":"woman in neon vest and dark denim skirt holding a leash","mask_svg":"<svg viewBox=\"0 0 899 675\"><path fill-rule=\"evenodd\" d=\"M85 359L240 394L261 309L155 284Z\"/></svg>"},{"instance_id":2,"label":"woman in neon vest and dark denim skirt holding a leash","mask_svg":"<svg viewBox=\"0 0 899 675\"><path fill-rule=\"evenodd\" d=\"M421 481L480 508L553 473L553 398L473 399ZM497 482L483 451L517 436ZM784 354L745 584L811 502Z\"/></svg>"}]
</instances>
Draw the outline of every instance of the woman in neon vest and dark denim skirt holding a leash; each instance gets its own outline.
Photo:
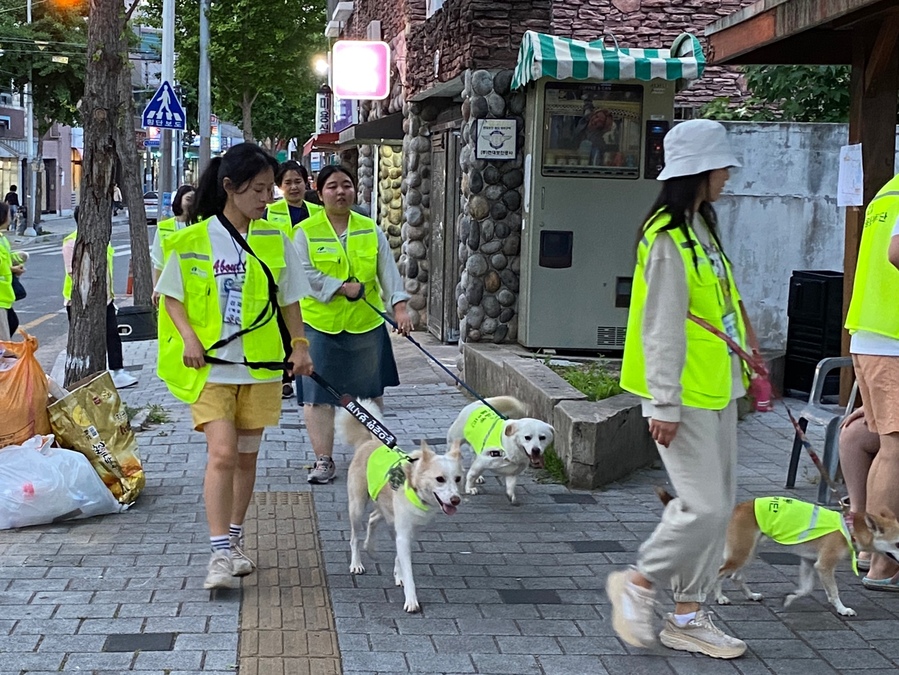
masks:
<instances>
[{"instance_id":1,"label":"woman in neon vest and dark denim skirt holding a leash","mask_svg":"<svg viewBox=\"0 0 899 675\"><path fill-rule=\"evenodd\" d=\"M324 210L300 223L294 243L312 294L302 302L315 372L341 394L375 399L399 384L383 317L384 299L403 334L412 330L409 295L384 232L351 211L356 186L349 170L327 166L318 175ZM337 401L308 377L299 392L316 461L310 483L334 478L334 406ZM382 406L383 408L383 406Z\"/></svg>"}]
</instances>

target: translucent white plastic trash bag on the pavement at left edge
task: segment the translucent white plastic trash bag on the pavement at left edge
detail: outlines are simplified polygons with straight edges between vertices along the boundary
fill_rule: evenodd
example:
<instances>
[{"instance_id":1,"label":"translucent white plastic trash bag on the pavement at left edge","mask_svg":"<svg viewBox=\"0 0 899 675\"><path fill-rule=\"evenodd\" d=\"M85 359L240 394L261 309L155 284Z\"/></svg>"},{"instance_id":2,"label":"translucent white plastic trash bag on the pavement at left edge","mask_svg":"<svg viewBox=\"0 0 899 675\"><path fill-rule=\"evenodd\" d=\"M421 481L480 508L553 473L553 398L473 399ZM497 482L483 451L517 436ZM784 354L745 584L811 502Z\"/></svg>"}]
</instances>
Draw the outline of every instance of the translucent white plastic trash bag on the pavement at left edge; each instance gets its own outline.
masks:
<instances>
[{"instance_id":1,"label":"translucent white plastic trash bag on the pavement at left edge","mask_svg":"<svg viewBox=\"0 0 899 675\"><path fill-rule=\"evenodd\" d=\"M35 436L0 452L0 530L124 511L79 452Z\"/></svg>"}]
</instances>

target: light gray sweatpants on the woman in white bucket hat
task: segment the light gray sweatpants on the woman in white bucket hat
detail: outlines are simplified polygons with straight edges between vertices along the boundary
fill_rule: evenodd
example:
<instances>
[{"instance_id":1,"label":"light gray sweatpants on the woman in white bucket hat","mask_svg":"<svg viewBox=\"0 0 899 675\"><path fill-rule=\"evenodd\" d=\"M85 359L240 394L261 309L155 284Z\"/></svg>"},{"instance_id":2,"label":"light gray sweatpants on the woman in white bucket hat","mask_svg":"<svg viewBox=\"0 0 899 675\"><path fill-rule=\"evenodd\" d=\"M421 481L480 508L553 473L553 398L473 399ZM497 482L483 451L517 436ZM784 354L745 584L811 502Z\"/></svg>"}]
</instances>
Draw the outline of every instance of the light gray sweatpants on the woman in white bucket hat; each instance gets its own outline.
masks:
<instances>
[{"instance_id":1,"label":"light gray sweatpants on the woman in white bucket hat","mask_svg":"<svg viewBox=\"0 0 899 675\"><path fill-rule=\"evenodd\" d=\"M705 602L724 562L737 490L737 404L720 411L681 408L671 446L658 446L677 493L643 542L637 570L669 586L676 602Z\"/></svg>"}]
</instances>

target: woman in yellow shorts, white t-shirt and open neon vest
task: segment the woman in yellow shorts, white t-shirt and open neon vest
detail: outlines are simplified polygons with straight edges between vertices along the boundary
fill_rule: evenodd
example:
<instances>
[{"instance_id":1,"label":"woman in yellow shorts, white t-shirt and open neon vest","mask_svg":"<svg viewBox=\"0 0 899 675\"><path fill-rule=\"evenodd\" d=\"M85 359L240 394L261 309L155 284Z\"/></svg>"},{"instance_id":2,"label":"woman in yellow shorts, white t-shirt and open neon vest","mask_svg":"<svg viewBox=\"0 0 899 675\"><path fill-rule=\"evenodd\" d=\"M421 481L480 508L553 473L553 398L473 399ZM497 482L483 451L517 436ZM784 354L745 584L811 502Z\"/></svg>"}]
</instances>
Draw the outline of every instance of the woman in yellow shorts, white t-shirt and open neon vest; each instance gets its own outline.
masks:
<instances>
[{"instance_id":1,"label":"woman in yellow shorts, white t-shirt and open neon vest","mask_svg":"<svg viewBox=\"0 0 899 675\"><path fill-rule=\"evenodd\" d=\"M309 292L306 275L287 236L262 220L276 168L253 143L216 157L197 187L196 224L162 244L158 374L191 404L208 448L203 494L212 556L204 588L234 587L235 577L255 568L243 550L243 522L262 432L281 416L279 312L293 373L312 372L299 306Z\"/></svg>"}]
</instances>

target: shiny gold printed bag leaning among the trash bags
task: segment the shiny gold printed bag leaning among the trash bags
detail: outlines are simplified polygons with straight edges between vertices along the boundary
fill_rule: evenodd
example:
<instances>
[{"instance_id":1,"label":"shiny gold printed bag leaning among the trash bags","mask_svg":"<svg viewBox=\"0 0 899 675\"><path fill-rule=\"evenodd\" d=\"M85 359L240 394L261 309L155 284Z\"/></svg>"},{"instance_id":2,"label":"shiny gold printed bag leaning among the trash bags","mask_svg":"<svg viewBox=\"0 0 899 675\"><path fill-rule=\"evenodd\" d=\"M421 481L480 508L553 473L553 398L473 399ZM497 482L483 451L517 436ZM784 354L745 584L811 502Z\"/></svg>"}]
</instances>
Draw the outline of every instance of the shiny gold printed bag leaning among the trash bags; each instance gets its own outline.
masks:
<instances>
[{"instance_id":1,"label":"shiny gold printed bag leaning among the trash bags","mask_svg":"<svg viewBox=\"0 0 899 675\"><path fill-rule=\"evenodd\" d=\"M146 481L137 439L107 371L52 403L50 424L59 444L90 460L122 504L137 499Z\"/></svg>"}]
</instances>

